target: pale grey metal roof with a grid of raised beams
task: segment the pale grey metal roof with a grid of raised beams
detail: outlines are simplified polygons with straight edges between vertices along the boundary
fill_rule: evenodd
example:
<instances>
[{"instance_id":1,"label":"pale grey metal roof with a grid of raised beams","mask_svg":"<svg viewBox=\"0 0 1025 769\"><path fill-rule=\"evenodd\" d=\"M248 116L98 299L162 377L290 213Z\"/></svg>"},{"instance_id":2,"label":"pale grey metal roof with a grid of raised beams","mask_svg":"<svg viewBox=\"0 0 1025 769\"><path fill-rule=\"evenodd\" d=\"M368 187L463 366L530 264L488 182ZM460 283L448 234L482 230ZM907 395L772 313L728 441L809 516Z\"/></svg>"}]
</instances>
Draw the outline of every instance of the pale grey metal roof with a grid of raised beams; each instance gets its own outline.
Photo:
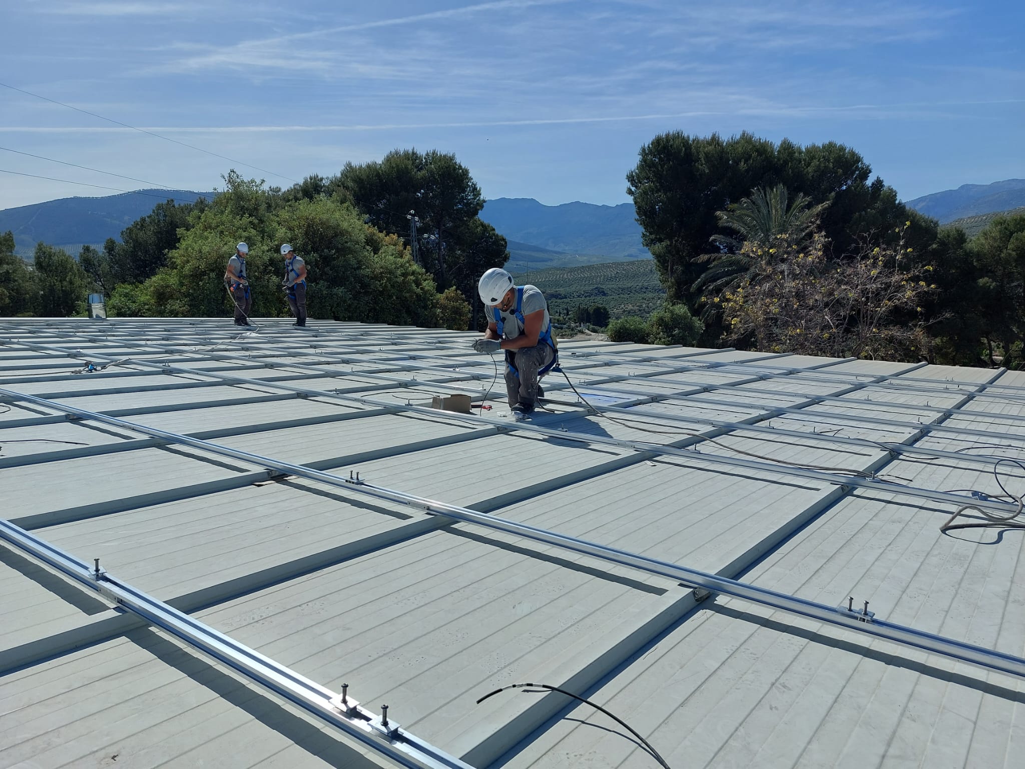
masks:
<instances>
[{"instance_id":1,"label":"pale grey metal roof with a grid of raised beams","mask_svg":"<svg viewBox=\"0 0 1025 769\"><path fill-rule=\"evenodd\" d=\"M1021 532L939 527L958 501L1014 512L994 469L1011 491L1025 470L993 456L1025 441L1025 376L563 342L602 415L552 374L515 422L473 336L0 320L0 518L106 570L90 593L0 545L0 767L413 765L122 585L388 704L415 761L657 766L563 695L476 703L543 682L674 768L1017 766ZM424 408L452 393L493 408ZM849 596L875 618L829 608ZM888 622L953 651L870 635Z\"/></svg>"}]
</instances>

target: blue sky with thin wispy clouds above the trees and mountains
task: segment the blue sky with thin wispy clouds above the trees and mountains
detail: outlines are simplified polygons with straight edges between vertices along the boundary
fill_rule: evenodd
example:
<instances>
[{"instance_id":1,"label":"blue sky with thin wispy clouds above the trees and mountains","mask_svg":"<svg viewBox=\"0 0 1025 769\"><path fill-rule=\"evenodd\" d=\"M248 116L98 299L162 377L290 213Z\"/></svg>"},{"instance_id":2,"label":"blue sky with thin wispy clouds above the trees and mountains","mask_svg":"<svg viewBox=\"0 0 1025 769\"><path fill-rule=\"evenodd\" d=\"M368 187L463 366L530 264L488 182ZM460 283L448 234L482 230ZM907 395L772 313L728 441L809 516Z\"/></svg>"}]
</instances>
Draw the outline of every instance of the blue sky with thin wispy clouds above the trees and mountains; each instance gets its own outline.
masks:
<instances>
[{"instance_id":1,"label":"blue sky with thin wispy clouds above the trees and mountains","mask_svg":"<svg viewBox=\"0 0 1025 769\"><path fill-rule=\"evenodd\" d=\"M1025 176L1023 6L0 0L0 82L295 179L415 146L488 198L615 204L657 133L746 129L848 144L911 199ZM2 87L0 147L192 190L233 165ZM0 173L0 208L104 194Z\"/></svg>"}]
</instances>

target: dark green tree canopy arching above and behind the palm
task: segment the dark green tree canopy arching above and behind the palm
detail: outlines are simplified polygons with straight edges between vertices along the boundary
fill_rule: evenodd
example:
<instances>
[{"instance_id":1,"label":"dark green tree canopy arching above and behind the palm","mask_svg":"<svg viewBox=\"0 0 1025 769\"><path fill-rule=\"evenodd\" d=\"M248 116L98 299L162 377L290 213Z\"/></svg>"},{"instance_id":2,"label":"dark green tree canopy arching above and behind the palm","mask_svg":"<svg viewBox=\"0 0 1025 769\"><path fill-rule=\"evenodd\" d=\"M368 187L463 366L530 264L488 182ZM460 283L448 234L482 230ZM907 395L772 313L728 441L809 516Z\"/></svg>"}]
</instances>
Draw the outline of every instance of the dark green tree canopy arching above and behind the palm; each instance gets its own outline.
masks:
<instances>
[{"instance_id":1,"label":"dark green tree canopy arching above and behind the palm","mask_svg":"<svg viewBox=\"0 0 1025 769\"><path fill-rule=\"evenodd\" d=\"M673 131L641 148L626 179L644 244L669 299L687 301L693 310L694 286L706 269L695 257L707 250L712 236L726 235L716 212L758 187L784 185L814 205L828 203L821 227L837 253L871 233L892 243L895 236L886 233L909 218L913 227L904 237L918 250L928 247L936 237L935 221L910 216L893 188L879 178L869 181L870 173L857 152L831 141L803 148L746 132L724 139Z\"/></svg>"}]
</instances>

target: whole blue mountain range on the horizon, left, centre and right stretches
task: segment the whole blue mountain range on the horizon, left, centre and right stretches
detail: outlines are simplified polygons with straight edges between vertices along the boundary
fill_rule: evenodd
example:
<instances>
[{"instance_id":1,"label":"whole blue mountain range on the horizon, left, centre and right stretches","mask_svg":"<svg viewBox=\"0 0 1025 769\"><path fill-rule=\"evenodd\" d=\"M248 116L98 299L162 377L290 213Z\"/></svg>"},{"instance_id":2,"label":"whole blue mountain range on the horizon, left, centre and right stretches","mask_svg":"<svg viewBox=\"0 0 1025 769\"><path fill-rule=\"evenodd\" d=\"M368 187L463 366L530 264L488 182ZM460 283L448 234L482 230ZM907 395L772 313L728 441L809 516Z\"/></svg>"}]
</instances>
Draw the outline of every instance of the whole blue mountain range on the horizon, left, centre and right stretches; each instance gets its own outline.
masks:
<instances>
[{"instance_id":1,"label":"whole blue mountain range on the horizon, left, centre and right stretches","mask_svg":"<svg viewBox=\"0 0 1025 769\"><path fill-rule=\"evenodd\" d=\"M14 233L15 252L23 256L31 255L37 241L77 255L83 244L101 245L117 238L162 200L183 203L212 196L188 190L139 190L102 198L61 198L0 210L0 233ZM941 224L970 217L979 222L988 219L986 214L1025 206L1025 179L962 185L909 200L907 205ZM517 274L651 258L641 242L632 203L577 201L549 206L533 198L496 198L485 203L481 218L505 236L508 269Z\"/></svg>"}]
</instances>

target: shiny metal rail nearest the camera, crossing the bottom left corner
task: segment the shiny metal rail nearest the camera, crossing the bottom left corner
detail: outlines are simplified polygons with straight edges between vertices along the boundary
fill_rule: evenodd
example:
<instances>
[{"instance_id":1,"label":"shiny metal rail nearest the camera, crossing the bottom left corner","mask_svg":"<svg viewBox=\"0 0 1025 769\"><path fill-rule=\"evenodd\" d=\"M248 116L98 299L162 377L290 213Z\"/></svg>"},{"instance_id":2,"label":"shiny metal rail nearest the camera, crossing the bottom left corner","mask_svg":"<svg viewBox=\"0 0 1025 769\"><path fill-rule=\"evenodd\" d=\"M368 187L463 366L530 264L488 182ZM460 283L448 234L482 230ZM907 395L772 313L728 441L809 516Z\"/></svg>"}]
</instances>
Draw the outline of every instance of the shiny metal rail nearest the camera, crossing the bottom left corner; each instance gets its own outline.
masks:
<instances>
[{"instance_id":1,"label":"shiny metal rail nearest the camera, crossing the bottom left corner","mask_svg":"<svg viewBox=\"0 0 1025 769\"><path fill-rule=\"evenodd\" d=\"M17 548L76 583L95 591L118 606L171 634L271 693L292 702L321 723L334 727L400 766L410 769L473 769L398 724L361 706L347 691L336 694L285 665L263 656L194 617L90 567L75 556L0 519L0 540Z\"/></svg>"}]
</instances>

